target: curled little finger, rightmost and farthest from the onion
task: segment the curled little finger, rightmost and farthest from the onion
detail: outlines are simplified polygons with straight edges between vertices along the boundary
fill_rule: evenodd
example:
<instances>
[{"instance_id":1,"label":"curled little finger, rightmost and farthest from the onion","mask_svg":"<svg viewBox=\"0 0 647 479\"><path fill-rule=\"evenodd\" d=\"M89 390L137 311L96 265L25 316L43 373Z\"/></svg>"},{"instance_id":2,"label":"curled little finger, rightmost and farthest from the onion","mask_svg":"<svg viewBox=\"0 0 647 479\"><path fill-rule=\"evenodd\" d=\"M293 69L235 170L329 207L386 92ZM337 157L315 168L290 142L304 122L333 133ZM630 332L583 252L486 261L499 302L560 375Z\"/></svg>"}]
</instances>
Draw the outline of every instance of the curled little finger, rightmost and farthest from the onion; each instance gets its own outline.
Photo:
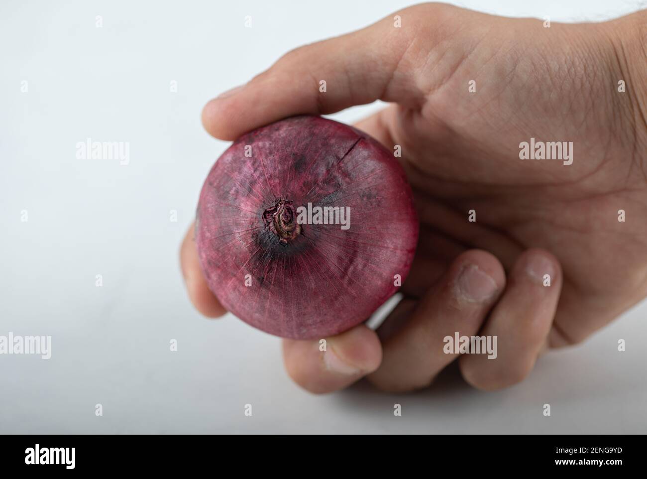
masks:
<instances>
[{"instance_id":1,"label":"curled little finger, rightmost and farthest from the onion","mask_svg":"<svg viewBox=\"0 0 647 479\"><path fill-rule=\"evenodd\" d=\"M549 286L545 285L548 280ZM465 380L483 390L522 381L547 340L561 289L560 264L552 254L540 249L523 252L480 333L497 338L496 358L488 359L487 354L461 356L459 366Z\"/></svg>"}]
</instances>

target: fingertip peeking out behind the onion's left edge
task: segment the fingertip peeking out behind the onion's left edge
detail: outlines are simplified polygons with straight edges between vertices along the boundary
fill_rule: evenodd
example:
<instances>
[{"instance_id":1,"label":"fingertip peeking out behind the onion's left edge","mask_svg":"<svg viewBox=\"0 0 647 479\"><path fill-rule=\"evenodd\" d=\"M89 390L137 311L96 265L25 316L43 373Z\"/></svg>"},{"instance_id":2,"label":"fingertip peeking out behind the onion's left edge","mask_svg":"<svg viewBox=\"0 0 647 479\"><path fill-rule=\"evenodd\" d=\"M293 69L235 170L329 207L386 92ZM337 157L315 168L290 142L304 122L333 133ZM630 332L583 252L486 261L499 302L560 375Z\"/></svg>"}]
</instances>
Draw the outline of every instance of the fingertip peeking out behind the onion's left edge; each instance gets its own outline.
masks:
<instances>
[{"instance_id":1,"label":"fingertip peeking out behind the onion's left edge","mask_svg":"<svg viewBox=\"0 0 647 479\"><path fill-rule=\"evenodd\" d=\"M195 247L194 229L195 223L192 223L188 232L186 232L186 236L184 236L184 241L182 241L180 248L182 276L184 276L186 291L195 309L208 318L217 318L224 315L227 311L218 302L214 293L211 292L206 284L198 260L198 251Z\"/></svg>"}]
</instances>

